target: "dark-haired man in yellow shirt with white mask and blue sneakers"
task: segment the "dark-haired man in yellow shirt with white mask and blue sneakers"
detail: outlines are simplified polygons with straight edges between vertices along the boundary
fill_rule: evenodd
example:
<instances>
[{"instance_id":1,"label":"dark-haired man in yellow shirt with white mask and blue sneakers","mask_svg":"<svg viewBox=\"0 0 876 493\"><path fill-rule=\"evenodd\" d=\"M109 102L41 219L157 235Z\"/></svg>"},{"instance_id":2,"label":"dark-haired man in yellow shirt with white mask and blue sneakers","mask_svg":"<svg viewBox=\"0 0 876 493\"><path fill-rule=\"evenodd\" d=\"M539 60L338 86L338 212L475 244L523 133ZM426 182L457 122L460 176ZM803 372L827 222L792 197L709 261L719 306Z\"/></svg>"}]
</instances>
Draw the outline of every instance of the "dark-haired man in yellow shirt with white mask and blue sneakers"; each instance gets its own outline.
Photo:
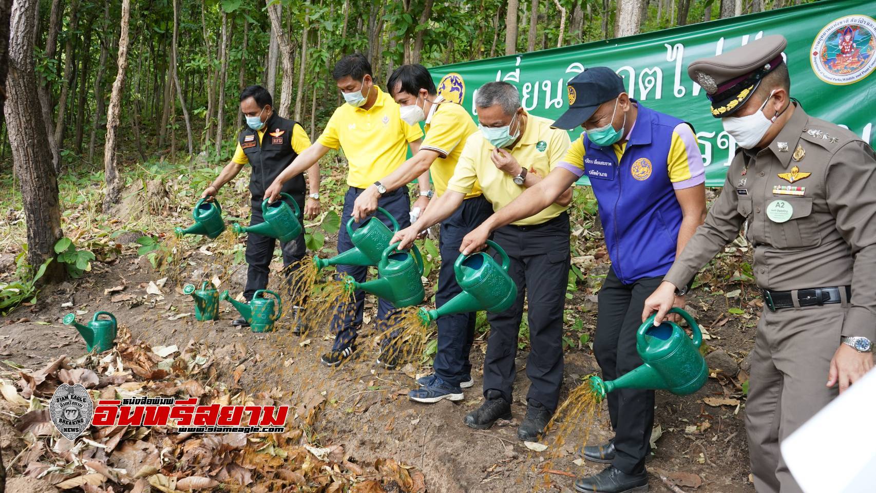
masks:
<instances>
[{"instance_id":1,"label":"dark-haired man in yellow shirt with white mask and blue sneakers","mask_svg":"<svg viewBox=\"0 0 876 493\"><path fill-rule=\"evenodd\" d=\"M434 191L439 197L447 190L450 177L456 171L456 163L463 153L465 140L477 133L477 125L469 113L456 102L446 101L435 90L432 75L422 65L403 65L389 77L386 88L401 105L401 117L415 125L426 121L426 138L420 151L405 161L379 183L387 191L405 187L422 173L429 172ZM380 192L371 185L356 199L353 216L371 214L378 206ZM420 197L420 200L423 198ZM416 208L414 204L414 216ZM425 205L425 204L424 204ZM420 210L424 210L425 207ZM484 199L477 181L459 208L441 222L438 248L442 263L438 271L438 288L435 305L443 306L449 299L462 292L456 284L453 263L459 256L463 236L492 214L490 202ZM444 398L462 400L463 388L474 385L471 379L469 353L475 340L476 313L456 313L442 316L438 324L438 349L434 358L434 373L417 380L420 389L410 391L408 396L423 403L434 403Z\"/></svg>"}]
</instances>

